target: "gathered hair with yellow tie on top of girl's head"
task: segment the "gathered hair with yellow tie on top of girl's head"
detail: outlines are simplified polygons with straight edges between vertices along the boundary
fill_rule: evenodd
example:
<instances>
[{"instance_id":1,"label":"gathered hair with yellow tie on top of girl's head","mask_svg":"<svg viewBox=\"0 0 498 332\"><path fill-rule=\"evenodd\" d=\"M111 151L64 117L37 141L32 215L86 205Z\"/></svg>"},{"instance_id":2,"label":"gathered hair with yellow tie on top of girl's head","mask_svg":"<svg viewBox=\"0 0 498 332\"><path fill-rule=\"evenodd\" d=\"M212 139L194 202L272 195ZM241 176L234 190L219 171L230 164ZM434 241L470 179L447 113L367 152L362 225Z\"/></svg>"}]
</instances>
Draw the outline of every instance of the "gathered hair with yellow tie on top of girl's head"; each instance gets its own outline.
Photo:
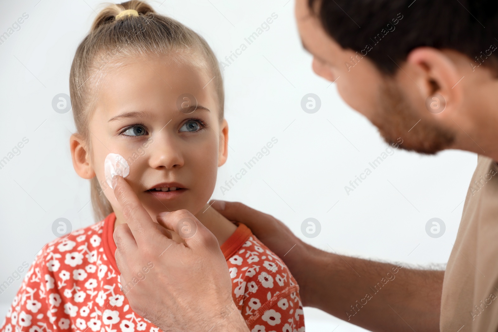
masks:
<instances>
[{"instance_id":1,"label":"gathered hair with yellow tie on top of girl's head","mask_svg":"<svg viewBox=\"0 0 498 332\"><path fill-rule=\"evenodd\" d=\"M155 13L155 10L149 4L140 0L112 3L99 12L90 31L94 31L108 22L119 21L127 16L146 15L147 13Z\"/></svg>"}]
</instances>

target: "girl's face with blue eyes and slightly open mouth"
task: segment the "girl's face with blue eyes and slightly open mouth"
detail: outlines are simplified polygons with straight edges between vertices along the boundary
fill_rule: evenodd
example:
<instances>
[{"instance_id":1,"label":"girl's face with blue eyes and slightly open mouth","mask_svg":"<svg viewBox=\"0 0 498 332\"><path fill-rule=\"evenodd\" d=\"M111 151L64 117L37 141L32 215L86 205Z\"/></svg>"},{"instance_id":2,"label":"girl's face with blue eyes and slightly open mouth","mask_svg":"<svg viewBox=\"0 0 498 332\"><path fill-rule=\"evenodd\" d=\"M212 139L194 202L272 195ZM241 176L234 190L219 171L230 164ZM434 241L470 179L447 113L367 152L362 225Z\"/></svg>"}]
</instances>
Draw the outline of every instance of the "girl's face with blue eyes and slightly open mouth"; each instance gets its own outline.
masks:
<instances>
[{"instance_id":1,"label":"girl's face with blue eyes and slightly open mouth","mask_svg":"<svg viewBox=\"0 0 498 332\"><path fill-rule=\"evenodd\" d=\"M168 56L137 57L103 78L89 125L91 167L118 219L121 209L104 174L111 152L126 159L126 181L153 219L179 209L195 215L208 202L228 140L212 78Z\"/></svg>"}]
</instances>

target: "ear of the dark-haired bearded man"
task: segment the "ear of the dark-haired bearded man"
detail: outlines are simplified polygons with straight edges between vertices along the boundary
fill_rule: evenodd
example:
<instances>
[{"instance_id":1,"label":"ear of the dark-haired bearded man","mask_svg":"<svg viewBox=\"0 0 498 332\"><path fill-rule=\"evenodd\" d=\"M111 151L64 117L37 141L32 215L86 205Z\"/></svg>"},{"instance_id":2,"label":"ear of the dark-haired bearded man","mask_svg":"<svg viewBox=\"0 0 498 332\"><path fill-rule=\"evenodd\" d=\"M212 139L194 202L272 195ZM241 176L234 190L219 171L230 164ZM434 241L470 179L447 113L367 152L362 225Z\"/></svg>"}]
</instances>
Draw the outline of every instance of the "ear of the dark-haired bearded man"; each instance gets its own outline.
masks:
<instances>
[{"instance_id":1,"label":"ear of the dark-haired bearded man","mask_svg":"<svg viewBox=\"0 0 498 332\"><path fill-rule=\"evenodd\" d=\"M422 100L428 100L428 105L436 107L444 103L444 111L435 110L435 116L452 116L462 107L464 85L460 80L463 74L445 52L432 47L417 47L408 54L406 61L415 67L412 73L416 73L414 80L420 87Z\"/></svg>"}]
</instances>

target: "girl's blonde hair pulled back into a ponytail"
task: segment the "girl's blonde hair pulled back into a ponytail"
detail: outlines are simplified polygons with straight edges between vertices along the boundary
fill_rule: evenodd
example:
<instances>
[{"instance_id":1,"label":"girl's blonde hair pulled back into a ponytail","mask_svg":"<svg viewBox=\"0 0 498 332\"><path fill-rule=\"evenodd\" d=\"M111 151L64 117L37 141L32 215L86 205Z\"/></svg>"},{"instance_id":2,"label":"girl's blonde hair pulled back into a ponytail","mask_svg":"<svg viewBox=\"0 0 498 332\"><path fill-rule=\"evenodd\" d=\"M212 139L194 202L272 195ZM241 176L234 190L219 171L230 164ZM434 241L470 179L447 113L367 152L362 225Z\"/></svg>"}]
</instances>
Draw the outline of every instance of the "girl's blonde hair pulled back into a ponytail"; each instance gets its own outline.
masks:
<instances>
[{"instance_id":1,"label":"girl's blonde hair pulled back into a ponytail","mask_svg":"<svg viewBox=\"0 0 498 332\"><path fill-rule=\"evenodd\" d=\"M126 9L136 10L138 16L124 15L116 19L116 15ZM204 38L180 22L156 13L145 2L130 0L109 4L98 14L89 34L78 46L69 76L76 135L87 143L90 160L93 150L88 127L104 69L118 68L132 58L145 60L165 55L172 55L174 61L189 61L214 76L211 84L218 95L220 119L223 119L223 79L216 56ZM106 186L104 182L103 185ZM91 179L91 199L96 221L113 212L102 191L95 176Z\"/></svg>"}]
</instances>

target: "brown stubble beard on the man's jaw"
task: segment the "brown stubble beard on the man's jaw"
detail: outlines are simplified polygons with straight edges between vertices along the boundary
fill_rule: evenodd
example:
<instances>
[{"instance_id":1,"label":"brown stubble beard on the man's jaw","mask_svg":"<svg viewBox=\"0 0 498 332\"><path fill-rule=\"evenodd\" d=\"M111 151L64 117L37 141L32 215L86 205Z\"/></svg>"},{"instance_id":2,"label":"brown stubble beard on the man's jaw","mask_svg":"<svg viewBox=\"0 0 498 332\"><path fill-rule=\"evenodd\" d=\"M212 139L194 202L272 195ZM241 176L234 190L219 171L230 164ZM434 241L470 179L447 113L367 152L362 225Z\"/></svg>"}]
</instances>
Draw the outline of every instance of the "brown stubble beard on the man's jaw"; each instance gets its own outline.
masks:
<instances>
[{"instance_id":1,"label":"brown stubble beard on the man's jaw","mask_svg":"<svg viewBox=\"0 0 498 332\"><path fill-rule=\"evenodd\" d=\"M381 83L379 96L380 108L372 123L388 144L394 146L399 143L398 138L401 138L402 144L399 147L404 150L436 154L449 148L455 141L453 131L417 116L417 111L389 78Z\"/></svg>"}]
</instances>

